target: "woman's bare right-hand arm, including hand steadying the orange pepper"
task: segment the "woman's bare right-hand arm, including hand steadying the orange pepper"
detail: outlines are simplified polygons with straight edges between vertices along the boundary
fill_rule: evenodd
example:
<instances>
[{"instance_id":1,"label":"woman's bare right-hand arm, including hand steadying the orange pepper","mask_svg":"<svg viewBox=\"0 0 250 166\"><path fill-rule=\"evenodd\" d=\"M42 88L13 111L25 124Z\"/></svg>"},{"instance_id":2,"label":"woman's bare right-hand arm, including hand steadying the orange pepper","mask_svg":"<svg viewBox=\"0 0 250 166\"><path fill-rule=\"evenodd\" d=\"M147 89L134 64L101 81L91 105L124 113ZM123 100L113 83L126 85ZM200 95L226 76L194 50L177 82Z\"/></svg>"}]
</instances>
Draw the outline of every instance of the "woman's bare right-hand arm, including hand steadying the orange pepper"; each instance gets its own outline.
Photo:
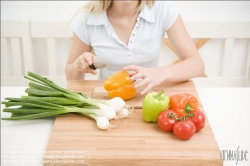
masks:
<instances>
[{"instance_id":1,"label":"woman's bare right-hand arm, including hand steadying the orange pepper","mask_svg":"<svg viewBox=\"0 0 250 166\"><path fill-rule=\"evenodd\" d=\"M146 86L141 94L147 93L151 88L161 84L163 81L186 81L204 73L204 63L185 29L180 15L175 23L167 30L167 34L171 44L176 50L177 56L182 60L181 62L158 68L141 68L136 65L130 65L124 68L130 71L131 79L144 79L135 85L136 88Z\"/></svg>"}]
</instances>

